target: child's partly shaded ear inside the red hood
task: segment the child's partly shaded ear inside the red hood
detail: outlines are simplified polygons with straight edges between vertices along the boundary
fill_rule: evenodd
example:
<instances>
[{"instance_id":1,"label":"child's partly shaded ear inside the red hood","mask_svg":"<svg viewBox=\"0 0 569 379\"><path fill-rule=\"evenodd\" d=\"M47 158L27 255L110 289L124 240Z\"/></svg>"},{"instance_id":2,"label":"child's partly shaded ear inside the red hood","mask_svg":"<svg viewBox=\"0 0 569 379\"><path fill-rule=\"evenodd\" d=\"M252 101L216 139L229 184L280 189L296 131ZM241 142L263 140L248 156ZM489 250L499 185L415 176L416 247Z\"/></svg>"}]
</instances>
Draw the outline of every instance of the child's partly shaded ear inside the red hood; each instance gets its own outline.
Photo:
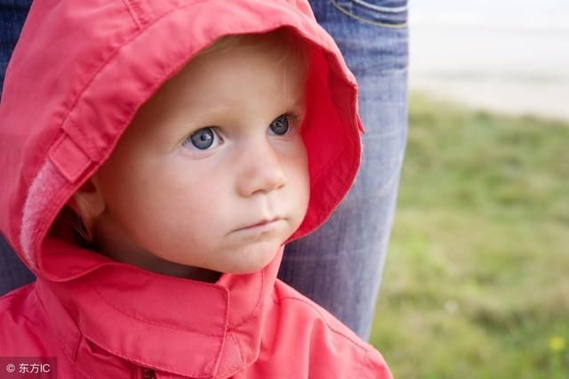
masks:
<instances>
[{"instance_id":1,"label":"child's partly shaded ear inside the red hood","mask_svg":"<svg viewBox=\"0 0 569 379\"><path fill-rule=\"evenodd\" d=\"M84 227L92 230L95 220L105 211L106 203L97 173L85 181L69 199L68 206L81 218Z\"/></svg>"}]
</instances>

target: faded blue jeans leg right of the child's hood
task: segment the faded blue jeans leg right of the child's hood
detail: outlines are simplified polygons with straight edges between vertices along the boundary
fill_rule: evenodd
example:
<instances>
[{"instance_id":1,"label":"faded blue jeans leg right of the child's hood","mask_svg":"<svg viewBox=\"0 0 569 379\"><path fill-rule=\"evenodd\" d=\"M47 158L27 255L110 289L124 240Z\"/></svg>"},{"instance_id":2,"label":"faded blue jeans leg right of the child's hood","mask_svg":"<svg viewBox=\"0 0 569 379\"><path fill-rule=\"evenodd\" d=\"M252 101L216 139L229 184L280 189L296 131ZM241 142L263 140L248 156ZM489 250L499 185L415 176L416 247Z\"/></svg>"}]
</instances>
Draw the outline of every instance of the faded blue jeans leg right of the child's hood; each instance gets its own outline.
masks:
<instances>
[{"instance_id":1,"label":"faded blue jeans leg right of the child's hood","mask_svg":"<svg viewBox=\"0 0 569 379\"><path fill-rule=\"evenodd\" d=\"M407 129L406 0L311 0L359 85L360 173L317 232L286 247L279 277L370 334L393 222Z\"/></svg>"}]
</instances>

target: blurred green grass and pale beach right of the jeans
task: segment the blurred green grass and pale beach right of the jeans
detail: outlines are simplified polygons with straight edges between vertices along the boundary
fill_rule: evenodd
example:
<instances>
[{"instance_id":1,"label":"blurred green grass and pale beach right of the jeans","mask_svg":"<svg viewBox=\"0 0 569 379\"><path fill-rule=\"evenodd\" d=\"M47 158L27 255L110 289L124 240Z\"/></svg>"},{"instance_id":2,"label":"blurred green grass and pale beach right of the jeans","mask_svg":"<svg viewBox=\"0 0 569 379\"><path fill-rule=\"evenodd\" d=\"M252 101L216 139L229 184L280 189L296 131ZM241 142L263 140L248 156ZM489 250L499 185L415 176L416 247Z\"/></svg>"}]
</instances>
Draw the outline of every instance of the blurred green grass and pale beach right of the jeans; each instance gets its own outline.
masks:
<instances>
[{"instance_id":1,"label":"blurred green grass and pale beach right of the jeans","mask_svg":"<svg viewBox=\"0 0 569 379\"><path fill-rule=\"evenodd\" d=\"M569 378L569 1L410 2L372 343L396 378Z\"/></svg>"}]
</instances>

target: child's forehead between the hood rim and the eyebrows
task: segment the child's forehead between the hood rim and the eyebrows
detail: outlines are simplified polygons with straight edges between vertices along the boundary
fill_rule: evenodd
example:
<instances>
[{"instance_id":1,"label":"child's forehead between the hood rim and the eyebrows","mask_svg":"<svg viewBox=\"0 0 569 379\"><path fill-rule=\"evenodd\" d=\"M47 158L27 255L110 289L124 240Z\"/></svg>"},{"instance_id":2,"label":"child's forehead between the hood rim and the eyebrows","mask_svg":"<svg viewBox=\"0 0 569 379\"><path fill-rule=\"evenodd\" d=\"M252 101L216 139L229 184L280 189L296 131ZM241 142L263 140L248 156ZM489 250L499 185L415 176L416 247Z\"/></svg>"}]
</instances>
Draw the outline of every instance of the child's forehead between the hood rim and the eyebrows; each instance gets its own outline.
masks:
<instances>
[{"instance_id":1,"label":"child's forehead between the hood rim and the eyebrows","mask_svg":"<svg viewBox=\"0 0 569 379\"><path fill-rule=\"evenodd\" d=\"M236 110L283 112L287 109L277 108L303 103L307 63L291 50L292 44L271 44L270 38L222 43L198 54L165 83L126 133L141 128L150 132L148 128L165 127L169 121L181 126L184 117L199 123L208 121L201 117L231 117Z\"/></svg>"}]
</instances>

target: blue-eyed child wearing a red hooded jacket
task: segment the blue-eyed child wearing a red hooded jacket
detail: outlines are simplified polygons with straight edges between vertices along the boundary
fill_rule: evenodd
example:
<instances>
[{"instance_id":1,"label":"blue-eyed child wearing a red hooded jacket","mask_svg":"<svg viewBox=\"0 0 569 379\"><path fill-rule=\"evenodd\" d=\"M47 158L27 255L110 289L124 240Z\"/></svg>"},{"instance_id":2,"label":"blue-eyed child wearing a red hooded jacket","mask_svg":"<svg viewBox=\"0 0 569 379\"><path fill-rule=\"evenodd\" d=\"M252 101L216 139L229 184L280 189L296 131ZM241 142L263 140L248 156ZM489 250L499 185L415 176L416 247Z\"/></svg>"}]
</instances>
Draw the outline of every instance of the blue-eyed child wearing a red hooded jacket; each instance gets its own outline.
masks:
<instances>
[{"instance_id":1,"label":"blue-eyed child wearing a red hooded jacket","mask_svg":"<svg viewBox=\"0 0 569 379\"><path fill-rule=\"evenodd\" d=\"M356 99L303 1L36 0L0 107L0 230L37 280L0 299L0 356L62 378L390 377L276 280L354 180Z\"/></svg>"}]
</instances>

